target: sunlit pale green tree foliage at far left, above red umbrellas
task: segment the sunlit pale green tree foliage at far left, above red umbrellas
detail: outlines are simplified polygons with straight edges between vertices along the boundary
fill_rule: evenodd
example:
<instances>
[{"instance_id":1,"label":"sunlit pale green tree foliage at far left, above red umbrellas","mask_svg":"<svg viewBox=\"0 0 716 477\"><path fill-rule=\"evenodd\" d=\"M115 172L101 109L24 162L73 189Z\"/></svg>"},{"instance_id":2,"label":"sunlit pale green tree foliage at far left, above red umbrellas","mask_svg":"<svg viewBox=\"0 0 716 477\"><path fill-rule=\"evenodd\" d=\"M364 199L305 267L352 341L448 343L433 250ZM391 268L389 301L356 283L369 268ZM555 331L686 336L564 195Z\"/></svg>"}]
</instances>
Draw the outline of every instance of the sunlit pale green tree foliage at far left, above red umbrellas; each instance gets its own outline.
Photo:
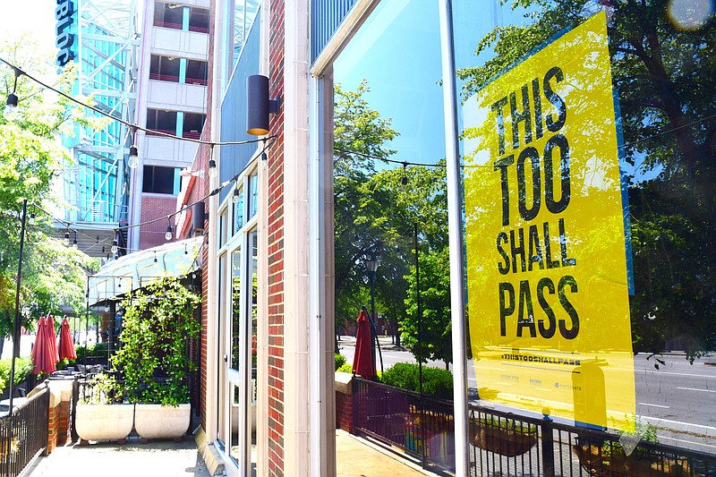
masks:
<instances>
[{"instance_id":1,"label":"sunlit pale green tree foliage at far left, above red umbrellas","mask_svg":"<svg viewBox=\"0 0 716 477\"><path fill-rule=\"evenodd\" d=\"M51 54L38 52L36 45L20 40L0 45L0 57L33 76L43 78L54 72ZM69 90L72 68L56 78L59 89ZM15 74L0 66L3 98L15 87ZM43 209L52 207L53 180L59 175L64 150L58 145L59 132L69 119L90 124L67 100L52 96L38 83L21 75L16 94L20 110L12 118L0 115L0 337L12 329L15 308L15 279L21 235L22 200L28 200L25 248L21 279L21 307L39 314L61 314L60 305L75 312L84 310L87 272L98 268L79 251L64 247L51 238L53 226ZM30 214L36 216L30 222ZM24 323L28 326L30 323ZM0 350L3 339L0 339Z\"/></svg>"}]
</instances>

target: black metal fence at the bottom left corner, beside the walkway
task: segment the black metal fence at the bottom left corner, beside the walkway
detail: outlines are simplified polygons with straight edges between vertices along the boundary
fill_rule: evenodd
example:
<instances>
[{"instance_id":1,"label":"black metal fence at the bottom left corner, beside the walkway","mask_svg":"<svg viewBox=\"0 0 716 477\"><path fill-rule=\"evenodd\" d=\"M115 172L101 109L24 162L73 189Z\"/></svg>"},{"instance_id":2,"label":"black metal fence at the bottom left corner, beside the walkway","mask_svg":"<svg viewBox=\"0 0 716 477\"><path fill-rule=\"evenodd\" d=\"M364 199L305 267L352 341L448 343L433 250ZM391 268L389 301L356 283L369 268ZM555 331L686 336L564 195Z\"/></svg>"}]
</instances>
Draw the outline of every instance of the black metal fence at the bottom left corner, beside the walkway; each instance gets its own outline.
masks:
<instances>
[{"instance_id":1,"label":"black metal fence at the bottom left corner, beside the walkway","mask_svg":"<svg viewBox=\"0 0 716 477\"><path fill-rule=\"evenodd\" d=\"M49 409L50 391L46 386L12 414L0 417L0 475L19 475L45 451Z\"/></svg>"}]
</instances>

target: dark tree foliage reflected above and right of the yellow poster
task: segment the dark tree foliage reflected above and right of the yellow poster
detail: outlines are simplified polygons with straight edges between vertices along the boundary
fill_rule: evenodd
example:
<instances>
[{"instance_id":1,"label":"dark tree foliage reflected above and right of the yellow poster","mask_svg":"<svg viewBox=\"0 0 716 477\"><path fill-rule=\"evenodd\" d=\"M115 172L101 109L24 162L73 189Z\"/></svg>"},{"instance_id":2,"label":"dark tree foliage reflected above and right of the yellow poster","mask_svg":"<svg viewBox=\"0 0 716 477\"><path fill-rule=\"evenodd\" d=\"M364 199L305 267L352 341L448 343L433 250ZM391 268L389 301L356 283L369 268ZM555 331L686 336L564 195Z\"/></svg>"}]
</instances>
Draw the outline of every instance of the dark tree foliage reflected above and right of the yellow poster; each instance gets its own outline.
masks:
<instances>
[{"instance_id":1,"label":"dark tree foliage reflected above and right of the yellow poster","mask_svg":"<svg viewBox=\"0 0 716 477\"><path fill-rule=\"evenodd\" d=\"M669 340L693 360L716 341L716 20L678 28L666 0L513 0L526 25L498 26L459 72L464 98L558 31L601 8L609 16L629 177L636 295L635 351ZM494 55L491 55L494 53Z\"/></svg>"}]
</instances>

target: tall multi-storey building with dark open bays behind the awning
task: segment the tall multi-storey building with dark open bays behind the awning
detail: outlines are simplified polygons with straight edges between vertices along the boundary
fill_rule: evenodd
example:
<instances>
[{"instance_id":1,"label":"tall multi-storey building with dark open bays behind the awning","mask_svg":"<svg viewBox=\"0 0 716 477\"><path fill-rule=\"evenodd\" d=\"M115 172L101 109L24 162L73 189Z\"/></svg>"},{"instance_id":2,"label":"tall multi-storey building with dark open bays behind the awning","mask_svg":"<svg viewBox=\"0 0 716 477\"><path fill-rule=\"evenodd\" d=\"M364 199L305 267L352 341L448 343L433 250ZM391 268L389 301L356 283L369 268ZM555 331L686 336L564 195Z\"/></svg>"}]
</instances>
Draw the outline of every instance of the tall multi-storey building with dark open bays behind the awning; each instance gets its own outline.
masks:
<instances>
[{"instance_id":1,"label":"tall multi-storey building with dark open bays behind the awning","mask_svg":"<svg viewBox=\"0 0 716 477\"><path fill-rule=\"evenodd\" d=\"M181 191L180 172L197 153L207 111L209 1L143 6L136 124L149 132L131 132L139 156L130 170L129 222L143 225L129 228L129 251L166 243L168 227L175 238L168 216Z\"/></svg>"}]
</instances>

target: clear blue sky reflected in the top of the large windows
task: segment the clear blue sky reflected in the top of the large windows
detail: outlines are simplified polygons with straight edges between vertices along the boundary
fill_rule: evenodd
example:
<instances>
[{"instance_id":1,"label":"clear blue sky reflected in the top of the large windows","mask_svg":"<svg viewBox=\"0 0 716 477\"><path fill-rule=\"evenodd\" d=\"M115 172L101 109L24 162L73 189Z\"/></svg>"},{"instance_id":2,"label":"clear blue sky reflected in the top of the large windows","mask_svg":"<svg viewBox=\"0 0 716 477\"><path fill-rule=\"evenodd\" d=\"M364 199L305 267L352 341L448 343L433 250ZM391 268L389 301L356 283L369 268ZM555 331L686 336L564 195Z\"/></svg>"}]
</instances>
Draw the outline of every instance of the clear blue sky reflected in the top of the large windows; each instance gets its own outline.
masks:
<instances>
[{"instance_id":1,"label":"clear blue sky reflected in the top of the large windows","mask_svg":"<svg viewBox=\"0 0 716 477\"><path fill-rule=\"evenodd\" d=\"M477 42L493 24L524 21L498 0L458 0L453 8L457 68L477 63ZM438 2L390 0L371 13L334 65L343 89L368 81L365 99L400 132L388 145L397 149L396 160L435 164L445 158L440 62Z\"/></svg>"}]
</instances>

